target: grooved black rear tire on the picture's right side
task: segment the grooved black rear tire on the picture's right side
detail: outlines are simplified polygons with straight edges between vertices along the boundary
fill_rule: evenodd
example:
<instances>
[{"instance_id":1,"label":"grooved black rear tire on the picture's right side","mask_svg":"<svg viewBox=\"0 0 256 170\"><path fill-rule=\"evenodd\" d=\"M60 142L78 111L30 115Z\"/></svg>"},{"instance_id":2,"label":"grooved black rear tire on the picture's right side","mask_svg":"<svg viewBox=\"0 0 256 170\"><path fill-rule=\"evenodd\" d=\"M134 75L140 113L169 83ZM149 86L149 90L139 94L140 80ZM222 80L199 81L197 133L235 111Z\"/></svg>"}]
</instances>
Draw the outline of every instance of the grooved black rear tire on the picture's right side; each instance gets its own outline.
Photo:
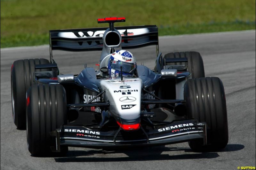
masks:
<instances>
[{"instance_id":1,"label":"grooved black rear tire on the picture's right side","mask_svg":"<svg viewBox=\"0 0 256 170\"><path fill-rule=\"evenodd\" d=\"M200 53L191 52L175 52L164 55L165 58L188 58L188 71L191 73L192 78L200 78L204 76L204 62ZM166 69L168 65L185 65L186 63L166 63Z\"/></svg>"}]
</instances>

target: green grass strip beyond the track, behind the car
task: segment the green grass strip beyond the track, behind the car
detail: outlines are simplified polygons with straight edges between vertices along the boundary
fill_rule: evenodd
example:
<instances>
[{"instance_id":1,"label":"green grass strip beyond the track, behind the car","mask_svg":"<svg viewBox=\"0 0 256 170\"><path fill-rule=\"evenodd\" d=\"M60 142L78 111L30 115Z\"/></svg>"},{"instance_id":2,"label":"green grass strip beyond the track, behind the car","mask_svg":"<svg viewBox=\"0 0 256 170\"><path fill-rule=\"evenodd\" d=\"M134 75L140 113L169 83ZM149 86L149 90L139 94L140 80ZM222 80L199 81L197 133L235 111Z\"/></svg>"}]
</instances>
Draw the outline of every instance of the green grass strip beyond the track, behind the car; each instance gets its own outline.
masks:
<instances>
[{"instance_id":1,"label":"green grass strip beyond the track, behind the car","mask_svg":"<svg viewBox=\"0 0 256 170\"><path fill-rule=\"evenodd\" d=\"M255 29L255 0L1 0L1 48L49 43L53 29L157 25L159 35Z\"/></svg>"}]
</instances>

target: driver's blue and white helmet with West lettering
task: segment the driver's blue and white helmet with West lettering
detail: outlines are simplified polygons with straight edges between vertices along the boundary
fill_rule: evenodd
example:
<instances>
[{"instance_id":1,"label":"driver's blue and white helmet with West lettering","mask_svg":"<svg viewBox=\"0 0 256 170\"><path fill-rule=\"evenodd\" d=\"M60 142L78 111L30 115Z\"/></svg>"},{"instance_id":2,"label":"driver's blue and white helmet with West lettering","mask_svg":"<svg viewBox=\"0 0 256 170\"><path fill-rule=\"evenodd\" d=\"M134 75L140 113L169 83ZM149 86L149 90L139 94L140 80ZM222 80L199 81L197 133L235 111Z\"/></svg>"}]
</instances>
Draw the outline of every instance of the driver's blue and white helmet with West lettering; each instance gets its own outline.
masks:
<instances>
[{"instance_id":1,"label":"driver's blue and white helmet with West lettering","mask_svg":"<svg viewBox=\"0 0 256 170\"><path fill-rule=\"evenodd\" d=\"M122 66L123 76L134 76L136 72L136 60L132 53L126 50L114 52L108 61L108 74L111 77L118 77L121 74Z\"/></svg>"}]
</instances>

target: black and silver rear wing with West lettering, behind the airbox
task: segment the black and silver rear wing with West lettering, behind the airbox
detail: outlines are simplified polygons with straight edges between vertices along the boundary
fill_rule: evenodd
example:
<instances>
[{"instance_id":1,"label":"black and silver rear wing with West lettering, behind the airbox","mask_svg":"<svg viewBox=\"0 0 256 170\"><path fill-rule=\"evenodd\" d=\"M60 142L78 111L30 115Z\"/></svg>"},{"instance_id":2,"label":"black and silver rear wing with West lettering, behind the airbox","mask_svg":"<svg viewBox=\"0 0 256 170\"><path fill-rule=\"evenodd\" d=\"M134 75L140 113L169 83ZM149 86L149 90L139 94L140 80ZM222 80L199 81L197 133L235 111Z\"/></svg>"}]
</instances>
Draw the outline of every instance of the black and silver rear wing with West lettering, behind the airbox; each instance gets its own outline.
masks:
<instances>
[{"instance_id":1,"label":"black and silver rear wing with West lettering, behind the airbox","mask_svg":"<svg viewBox=\"0 0 256 170\"><path fill-rule=\"evenodd\" d=\"M84 28L50 31L50 57L52 60L52 50L65 51L93 51L102 50L103 33L108 29L104 28ZM156 45L158 54L158 28L152 26L121 26L115 27L121 34L122 49L140 48L149 45Z\"/></svg>"}]
</instances>

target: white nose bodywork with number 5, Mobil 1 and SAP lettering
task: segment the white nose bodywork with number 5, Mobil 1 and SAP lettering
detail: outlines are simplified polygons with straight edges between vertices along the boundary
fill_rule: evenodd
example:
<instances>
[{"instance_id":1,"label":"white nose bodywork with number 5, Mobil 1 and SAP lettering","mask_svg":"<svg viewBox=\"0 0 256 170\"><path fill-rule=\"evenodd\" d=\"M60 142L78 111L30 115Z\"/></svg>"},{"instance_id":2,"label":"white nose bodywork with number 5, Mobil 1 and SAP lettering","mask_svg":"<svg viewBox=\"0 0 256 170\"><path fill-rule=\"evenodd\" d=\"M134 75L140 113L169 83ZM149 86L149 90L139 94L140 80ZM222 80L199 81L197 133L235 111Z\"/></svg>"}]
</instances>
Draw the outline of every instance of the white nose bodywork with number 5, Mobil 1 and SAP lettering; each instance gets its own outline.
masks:
<instances>
[{"instance_id":1,"label":"white nose bodywork with number 5, Mobil 1 and SAP lettering","mask_svg":"<svg viewBox=\"0 0 256 170\"><path fill-rule=\"evenodd\" d=\"M100 87L106 90L105 101L109 101L110 114L121 121L138 123L140 118L140 100L142 81L140 78L105 79Z\"/></svg>"}]
</instances>

